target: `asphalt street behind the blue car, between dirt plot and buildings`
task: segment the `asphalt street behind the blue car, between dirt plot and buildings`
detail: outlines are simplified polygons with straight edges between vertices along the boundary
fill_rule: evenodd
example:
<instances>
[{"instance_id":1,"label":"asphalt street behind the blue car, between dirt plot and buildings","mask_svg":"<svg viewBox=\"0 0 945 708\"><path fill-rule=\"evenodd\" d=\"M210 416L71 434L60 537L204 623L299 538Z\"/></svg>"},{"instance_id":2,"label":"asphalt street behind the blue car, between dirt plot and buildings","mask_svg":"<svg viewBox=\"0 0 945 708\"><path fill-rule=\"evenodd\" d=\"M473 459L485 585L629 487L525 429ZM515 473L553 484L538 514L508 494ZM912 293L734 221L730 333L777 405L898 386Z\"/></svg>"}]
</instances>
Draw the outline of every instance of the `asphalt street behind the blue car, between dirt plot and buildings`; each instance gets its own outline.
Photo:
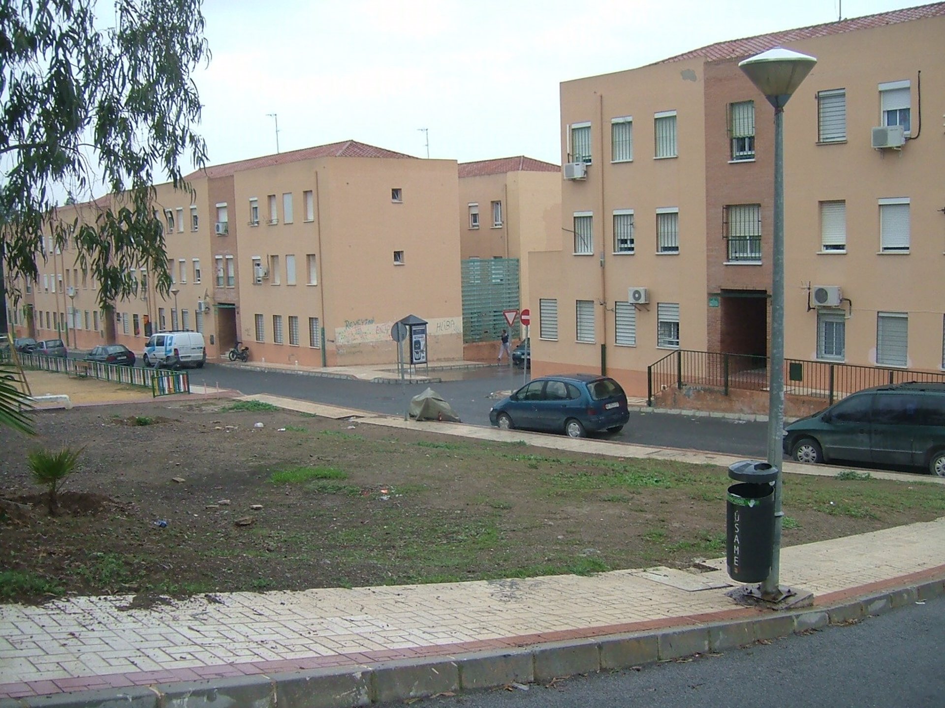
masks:
<instances>
[{"instance_id":1,"label":"asphalt street behind the blue car, between dirt plot and buildings","mask_svg":"<svg viewBox=\"0 0 945 708\"><path fill-rule=\"evenodd\" d=\"M374 413L403 415L412 396L421 393L420 384L370 383L351 379L330 379L295 373L259 372L235 366L208 363L191 369L191 382L237 389L244 394L272 394ZM439 372L433 374L439 376ZM521 369L487 367L464 372L464 379L433 384L464 423L489 425L489 409L497 392L522 385ZM637 445L683 447L724 452L750 459L765 459L765 423L748 423L726 418L686 417L667 413L630 412L627 427L610 439Z\"/></svg>"}]
</instances>

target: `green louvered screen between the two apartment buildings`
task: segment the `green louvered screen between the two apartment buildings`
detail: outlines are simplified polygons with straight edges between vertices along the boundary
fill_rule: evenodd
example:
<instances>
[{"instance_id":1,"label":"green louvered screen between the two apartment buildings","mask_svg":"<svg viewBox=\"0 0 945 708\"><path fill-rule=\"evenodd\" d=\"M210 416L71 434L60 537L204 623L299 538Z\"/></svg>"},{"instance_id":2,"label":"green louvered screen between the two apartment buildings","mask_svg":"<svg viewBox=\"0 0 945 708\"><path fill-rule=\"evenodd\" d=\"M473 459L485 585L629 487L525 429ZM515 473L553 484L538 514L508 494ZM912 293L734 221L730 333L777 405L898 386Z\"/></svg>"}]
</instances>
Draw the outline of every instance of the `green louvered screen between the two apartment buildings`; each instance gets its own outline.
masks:
<instances>
[{"instance_id":1,"label":"green louvered screen between the two apartment buildings","mask_svg":"<svg viewBox=\"0 0 945 708\"><path fill-rule=\"evenodd\" d=\"M503 329L513 340L522 338L521 323L508 327L502 312L519 310L517 258L462 261L463 342L496 342Z\"/></svg>"}]
</instances>

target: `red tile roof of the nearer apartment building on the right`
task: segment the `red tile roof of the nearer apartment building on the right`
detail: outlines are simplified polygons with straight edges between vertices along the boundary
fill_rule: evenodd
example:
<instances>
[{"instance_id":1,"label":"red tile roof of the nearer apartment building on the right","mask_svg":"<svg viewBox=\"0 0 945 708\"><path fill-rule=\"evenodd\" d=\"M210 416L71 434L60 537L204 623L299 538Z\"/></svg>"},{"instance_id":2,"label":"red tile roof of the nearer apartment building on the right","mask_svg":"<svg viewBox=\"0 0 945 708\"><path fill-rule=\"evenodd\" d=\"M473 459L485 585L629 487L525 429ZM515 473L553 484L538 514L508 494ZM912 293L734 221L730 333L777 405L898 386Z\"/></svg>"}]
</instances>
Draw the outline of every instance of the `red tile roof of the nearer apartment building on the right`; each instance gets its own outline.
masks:
<instances>
[{"instance_id":1,"label":"red tile roof of the nearer apartment building on the right","mask_svg":"<svg viewBox=\"0 0 945 708\"><path fill-rule=\"evenodd\" d=\"M770 34L760 34L755 37L746 37L741 40L730 40L729 42L717 42L699 49L693 49L685 54L679 54L676 57L662 59L659 64L666 64L671 61L681 61L683 59L696 59L701 57L708 61L719 61L724 59L737 59L739 57L750 57L754 54L760 54L775 46L780 46L788 42L798 42L799 40L811 40L817 37L827 37L833 34L843 32L853 32L857 29L872 29L885 25L898 25L902 22L911 22L912 20L922 20L929 17L938 17L945 15L945 3L933 3L931 5L922 5L918 8L895 9L889 12L880 12L866 17L854 17L851 20L840 20L838 22L826 23L824 25L812 25L809 27L799 27L799 29L785 29L781 32L772 32Z\"/></svg>"}]
</instances>

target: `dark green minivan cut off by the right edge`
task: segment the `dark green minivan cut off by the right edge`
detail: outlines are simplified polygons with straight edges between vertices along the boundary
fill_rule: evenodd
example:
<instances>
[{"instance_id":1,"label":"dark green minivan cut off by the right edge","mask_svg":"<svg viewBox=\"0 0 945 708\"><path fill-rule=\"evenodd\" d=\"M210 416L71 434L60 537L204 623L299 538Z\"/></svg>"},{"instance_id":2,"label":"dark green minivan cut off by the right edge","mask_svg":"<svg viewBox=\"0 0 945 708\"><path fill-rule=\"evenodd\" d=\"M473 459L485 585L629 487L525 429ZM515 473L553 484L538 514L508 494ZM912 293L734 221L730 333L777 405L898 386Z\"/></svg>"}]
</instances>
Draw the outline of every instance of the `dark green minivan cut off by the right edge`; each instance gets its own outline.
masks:
<instances>
[{"instance_id":1,"label":"dark green minivan cut off by the right edge","mask_svg":"<svg viewBox=\"0 0 945 708\"><path fill-rule=\"evenodd\" d=\"M921 467L945 477L945 383L858 391L786 426L783 445L800 463Z\"/></svg>"}]
</instances>

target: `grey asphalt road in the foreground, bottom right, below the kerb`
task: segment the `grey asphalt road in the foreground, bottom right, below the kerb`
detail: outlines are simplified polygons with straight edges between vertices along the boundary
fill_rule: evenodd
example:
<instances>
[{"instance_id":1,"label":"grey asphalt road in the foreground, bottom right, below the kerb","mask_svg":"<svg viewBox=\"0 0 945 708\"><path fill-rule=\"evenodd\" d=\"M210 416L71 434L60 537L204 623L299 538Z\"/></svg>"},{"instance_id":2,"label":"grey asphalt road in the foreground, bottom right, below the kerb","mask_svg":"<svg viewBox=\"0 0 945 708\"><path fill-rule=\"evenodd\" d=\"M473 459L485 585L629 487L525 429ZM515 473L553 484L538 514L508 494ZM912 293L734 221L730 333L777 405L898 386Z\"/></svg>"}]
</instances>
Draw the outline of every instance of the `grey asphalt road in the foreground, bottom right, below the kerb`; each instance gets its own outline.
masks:
<instances>
[{"instance_id":1,"label":"grey asphalt road in the foreground, bottom right, below the kerb","mask_svg":"<svg viewBox=\"0 0 945 708\"><path fill-rule=\"evenodd\" d=\"M527 691L423 700L436 708L891 708L945 705L945 597L851 627L684 663L593 674ZM391 704L392 705L392 704Z\"/></svg>"}]
</instances>

